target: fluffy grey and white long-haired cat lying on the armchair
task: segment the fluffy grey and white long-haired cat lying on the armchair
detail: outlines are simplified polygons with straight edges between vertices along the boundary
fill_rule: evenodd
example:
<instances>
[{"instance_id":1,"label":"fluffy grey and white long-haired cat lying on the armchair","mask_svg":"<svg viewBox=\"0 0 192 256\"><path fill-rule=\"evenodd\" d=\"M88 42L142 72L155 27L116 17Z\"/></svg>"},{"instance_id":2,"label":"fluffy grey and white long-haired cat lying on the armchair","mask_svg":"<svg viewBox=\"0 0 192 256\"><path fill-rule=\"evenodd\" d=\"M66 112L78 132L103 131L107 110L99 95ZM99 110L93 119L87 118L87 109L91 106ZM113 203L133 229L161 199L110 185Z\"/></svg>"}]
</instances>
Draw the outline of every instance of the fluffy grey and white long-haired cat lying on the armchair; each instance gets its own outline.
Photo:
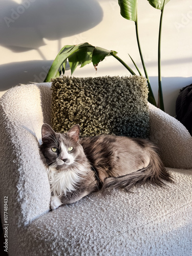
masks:
<instances>
[{"instance_id":1,"label":"fluffy grey and white long-haired cat lying on the armchair","mask_svg":"<svg viewBox=\"0 0 192 256\"><path fill-rule=\"evenodd\" d=\"M51 208L71 204L93 191L172 181L154 144L146 139L101 135L79 138L80 126L55 133L42 125L40 151L49 166Z\"/></svg>"}]
</instances>

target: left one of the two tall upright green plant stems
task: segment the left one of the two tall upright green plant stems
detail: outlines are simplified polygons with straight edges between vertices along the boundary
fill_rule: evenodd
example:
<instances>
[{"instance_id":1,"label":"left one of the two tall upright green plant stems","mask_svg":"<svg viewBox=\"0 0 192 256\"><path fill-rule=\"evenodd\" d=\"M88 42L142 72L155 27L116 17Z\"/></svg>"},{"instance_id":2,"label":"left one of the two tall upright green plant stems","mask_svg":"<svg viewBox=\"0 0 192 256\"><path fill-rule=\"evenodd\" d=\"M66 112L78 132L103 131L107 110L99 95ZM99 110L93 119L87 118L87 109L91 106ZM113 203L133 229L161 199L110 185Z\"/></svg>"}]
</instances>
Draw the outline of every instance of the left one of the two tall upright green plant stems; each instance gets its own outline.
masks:
<instances>
[{"instance_id":1,"label":"left one of the two tall upright green plant stems","mask_svg":"<svg viewBox=\"0 0 192 256\"><path fill-rule=\"evenodd\" d=\"M155 97L154 97L154 94L153 94L153 91L152 91L152 88L151 88L150 79L148 78L148 74L146 72L145 63L144 63L144 60L143 60L143 55L142 55L142 52L141 52L141 47L140 47L140 42L139 42L137 17L136 17L136 20L135 20L135 28L136 28L136 37L137 37L137 45L138 45L138 48L139 48L139 54L140 54L143 70L144 70L144 73L145 73L145 77L146 77L147 83L148 83L148 101L150 103L154 104L155 106L157 106L157 103L155 101Z\"/></svg>"}]
</instances>

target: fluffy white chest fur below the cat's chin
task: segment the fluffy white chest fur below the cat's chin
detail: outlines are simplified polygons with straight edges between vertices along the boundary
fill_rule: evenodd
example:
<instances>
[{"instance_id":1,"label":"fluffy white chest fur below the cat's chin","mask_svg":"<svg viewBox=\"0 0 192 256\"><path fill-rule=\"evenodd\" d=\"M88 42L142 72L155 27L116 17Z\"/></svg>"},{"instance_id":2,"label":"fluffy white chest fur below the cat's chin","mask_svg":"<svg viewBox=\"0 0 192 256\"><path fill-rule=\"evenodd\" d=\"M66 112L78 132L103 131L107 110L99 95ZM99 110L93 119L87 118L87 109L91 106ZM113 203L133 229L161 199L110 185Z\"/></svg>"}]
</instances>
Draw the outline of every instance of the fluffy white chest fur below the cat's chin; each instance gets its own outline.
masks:
<instances>
[{"instance_id":1,"label":"fluffy white chest fur below the cat's chin","mask_svg":"<svg viewBox=\"0 0 192 256\"><path fill-rule=\"evenodd\" d=\"M49 179L52 194L54 196L60 196L62 194L66 196L67 192L76 190L77 183L83 179L80 175L85 173L86 170L83 168L71 168L60 173L57 173L54 169L49 169Z\"/></svg>"}]
</instances>

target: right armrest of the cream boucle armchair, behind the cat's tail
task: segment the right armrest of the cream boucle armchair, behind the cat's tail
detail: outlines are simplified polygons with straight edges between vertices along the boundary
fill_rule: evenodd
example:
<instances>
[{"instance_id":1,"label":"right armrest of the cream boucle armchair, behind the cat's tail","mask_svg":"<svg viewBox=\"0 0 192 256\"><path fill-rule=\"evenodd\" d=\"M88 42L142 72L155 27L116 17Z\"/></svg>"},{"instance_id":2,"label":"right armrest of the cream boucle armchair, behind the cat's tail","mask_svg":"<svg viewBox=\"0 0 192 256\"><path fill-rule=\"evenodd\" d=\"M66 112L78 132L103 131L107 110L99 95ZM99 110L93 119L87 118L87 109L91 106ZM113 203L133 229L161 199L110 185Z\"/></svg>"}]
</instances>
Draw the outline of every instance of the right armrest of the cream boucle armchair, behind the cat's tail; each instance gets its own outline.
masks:
<instances>
[{"instance_id":1,"label":"right armrest of the cream boucle armchair, behind the cat's tail","mask_svg":"<svg viewBox=\"0 0 192 256\"><path fill-rule=\"evenodd\" d=\"M192 137L177 119L148 103L150 139L159 147L165 166L192 168Z\"/></svg>"}]
</instances>

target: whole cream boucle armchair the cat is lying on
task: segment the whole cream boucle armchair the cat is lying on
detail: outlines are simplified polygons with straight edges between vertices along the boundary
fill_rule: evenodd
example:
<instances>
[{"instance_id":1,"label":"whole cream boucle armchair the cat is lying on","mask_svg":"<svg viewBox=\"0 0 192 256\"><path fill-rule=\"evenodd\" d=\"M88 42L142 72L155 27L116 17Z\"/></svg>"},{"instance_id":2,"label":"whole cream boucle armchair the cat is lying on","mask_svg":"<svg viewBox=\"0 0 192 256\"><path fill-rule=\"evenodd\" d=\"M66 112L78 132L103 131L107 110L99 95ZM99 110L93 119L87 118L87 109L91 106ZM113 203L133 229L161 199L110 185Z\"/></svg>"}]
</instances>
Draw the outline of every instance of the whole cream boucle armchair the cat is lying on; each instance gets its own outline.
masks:
<instances>
[{"instance_id":1,"label":"whole cream boucle armchair the cat is lying on","mask_svg":"<svg viewBox=\"0 0 192 256\"><path fill-rule=\"evenodd\" d=\"M93 193L50 211L50 184L38 149L41 125L51 123L50 87L15 87L0 100L0 210L9 256L191 255L192 138L151 104L151 140L175 182L166 189Z\"/></svg>"}]
</instances>

